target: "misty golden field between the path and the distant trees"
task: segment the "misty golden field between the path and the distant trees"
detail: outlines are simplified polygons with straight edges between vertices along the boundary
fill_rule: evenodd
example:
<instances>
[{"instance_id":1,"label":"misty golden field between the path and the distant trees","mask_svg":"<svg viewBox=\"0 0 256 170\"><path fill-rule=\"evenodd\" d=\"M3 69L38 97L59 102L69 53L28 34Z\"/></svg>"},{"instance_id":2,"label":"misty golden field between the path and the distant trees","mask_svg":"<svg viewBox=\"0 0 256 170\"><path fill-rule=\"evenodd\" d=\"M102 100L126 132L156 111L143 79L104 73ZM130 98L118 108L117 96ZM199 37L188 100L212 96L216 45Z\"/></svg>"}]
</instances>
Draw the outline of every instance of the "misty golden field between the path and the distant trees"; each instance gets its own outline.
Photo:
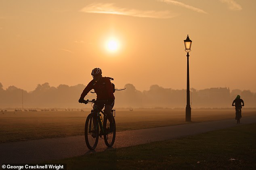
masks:
<instances>
[{"instance_id":1,"label":"misty golden field between the path and the distant trees","mask_svg":"<svg viewBox=\"0 0 256 170\"><path fill-rule=\"evenodd\" d=\"M66 137L84 134L90 111L1 112L0 143ZM242 110L242 116L256 116L256 110ZM235 110L192 110L192 122L235 118ZM116 110L117 131L185 124L185 110ZM243 122L243 119L241 119ZM235 119L234 119L235 123Z\"/></svg>"}]
</instances>

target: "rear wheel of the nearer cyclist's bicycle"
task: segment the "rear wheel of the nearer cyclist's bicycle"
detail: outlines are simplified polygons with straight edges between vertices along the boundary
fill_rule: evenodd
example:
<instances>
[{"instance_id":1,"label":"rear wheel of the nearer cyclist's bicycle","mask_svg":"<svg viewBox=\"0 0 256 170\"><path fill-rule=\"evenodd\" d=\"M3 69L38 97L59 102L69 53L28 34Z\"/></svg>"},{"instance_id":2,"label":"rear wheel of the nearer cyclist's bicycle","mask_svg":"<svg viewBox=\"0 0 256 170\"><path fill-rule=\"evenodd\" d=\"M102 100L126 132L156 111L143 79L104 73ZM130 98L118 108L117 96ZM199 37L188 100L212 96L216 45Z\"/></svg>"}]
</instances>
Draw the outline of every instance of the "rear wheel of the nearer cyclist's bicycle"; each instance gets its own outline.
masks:
<instances>
[{"instance_id":1,"label":"rear wheel of the nearer cyclist's bicycle","mask_svg":"<svg viewBox=\"0 0 256 170\"><path fill-rule=\"evenodd\" d=\"M107 120L104 120L104 122L103 122L103 127L105 129L104 141L105 141L105 144L107 145L107 147L113 146L114 142L115 142L115 118L114 117L113 117L113 123L114 123L114 129L111 132L109 120L107 119Z\"/></svg>"}]
</instances>

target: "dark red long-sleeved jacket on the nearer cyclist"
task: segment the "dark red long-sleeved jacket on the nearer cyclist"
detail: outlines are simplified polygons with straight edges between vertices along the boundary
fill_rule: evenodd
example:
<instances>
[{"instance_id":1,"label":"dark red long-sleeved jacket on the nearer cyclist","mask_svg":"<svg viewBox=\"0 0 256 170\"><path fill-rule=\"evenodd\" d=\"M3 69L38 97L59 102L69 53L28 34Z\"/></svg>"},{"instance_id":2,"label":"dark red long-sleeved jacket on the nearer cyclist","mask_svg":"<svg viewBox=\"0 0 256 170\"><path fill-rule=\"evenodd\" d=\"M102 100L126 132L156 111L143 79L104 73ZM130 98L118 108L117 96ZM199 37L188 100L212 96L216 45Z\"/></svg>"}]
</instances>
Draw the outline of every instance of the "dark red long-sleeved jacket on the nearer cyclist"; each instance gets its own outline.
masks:
<instances>
[{"instance_id":1,"label":"dark red long-sleeved jacket on the nearer cyclist","mask_svg":"<svg viewBox=\"0 0 256 170\"><path fill-rule=\"evenodd\" d=\"M80 98L84 99L92 89L94 89L94 92L97 94L97 100L115 100L113 87L108 77L101 77L99 82L95 82L94 79L92 79L84 88Z\"/></svg>"}]
</instances>

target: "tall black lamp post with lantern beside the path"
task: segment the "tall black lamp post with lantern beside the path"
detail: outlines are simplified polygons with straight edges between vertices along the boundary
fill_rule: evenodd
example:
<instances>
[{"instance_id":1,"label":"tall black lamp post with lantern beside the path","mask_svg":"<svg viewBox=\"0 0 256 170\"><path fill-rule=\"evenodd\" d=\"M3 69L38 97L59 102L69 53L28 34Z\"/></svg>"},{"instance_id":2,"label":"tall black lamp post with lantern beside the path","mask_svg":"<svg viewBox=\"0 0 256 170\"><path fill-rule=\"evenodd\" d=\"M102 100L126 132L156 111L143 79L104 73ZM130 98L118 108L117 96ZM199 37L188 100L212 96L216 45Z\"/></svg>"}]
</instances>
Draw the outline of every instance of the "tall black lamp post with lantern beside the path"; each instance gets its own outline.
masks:
<instances>
[{"instance_id":1,"label":"tall black lamp post with lantern beside the path","mask_svg":"<svg viewBox=\"0 0 256 170\"><path fill-rule=\"evenodd\" d=\"M192 41L187 35L187 39L184 40L185 52L187 52L187 106L186 106L186 122L191 121L191 107L190 107L190 96L189 96L189 52L191 51Z\"/></svg>"}]
</instances>

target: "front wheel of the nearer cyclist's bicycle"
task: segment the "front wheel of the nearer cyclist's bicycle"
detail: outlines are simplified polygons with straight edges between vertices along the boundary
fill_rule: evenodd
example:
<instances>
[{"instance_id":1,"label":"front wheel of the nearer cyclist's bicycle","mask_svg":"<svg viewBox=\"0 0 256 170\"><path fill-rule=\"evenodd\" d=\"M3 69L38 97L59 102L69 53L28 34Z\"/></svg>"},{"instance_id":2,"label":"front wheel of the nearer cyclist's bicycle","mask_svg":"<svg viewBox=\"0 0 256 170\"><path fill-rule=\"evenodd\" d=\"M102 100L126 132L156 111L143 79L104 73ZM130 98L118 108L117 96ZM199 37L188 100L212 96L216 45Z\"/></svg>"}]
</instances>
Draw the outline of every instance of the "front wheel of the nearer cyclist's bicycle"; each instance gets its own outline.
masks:
<instances>
[{"instance_id":1,"label":"front wheel of the nearer cyclist's bicycle","mask_svg":"<svg viewBox=\"0 0 256 170\"><path fill-rule=\"evenodd\" d=\"M97 128L94 128L92 118L93 115L91 113L87 116L84 126L85 143L90 150L95 149L99 141L99 126L97 126Z\"/></svg>"}]
</instances>

